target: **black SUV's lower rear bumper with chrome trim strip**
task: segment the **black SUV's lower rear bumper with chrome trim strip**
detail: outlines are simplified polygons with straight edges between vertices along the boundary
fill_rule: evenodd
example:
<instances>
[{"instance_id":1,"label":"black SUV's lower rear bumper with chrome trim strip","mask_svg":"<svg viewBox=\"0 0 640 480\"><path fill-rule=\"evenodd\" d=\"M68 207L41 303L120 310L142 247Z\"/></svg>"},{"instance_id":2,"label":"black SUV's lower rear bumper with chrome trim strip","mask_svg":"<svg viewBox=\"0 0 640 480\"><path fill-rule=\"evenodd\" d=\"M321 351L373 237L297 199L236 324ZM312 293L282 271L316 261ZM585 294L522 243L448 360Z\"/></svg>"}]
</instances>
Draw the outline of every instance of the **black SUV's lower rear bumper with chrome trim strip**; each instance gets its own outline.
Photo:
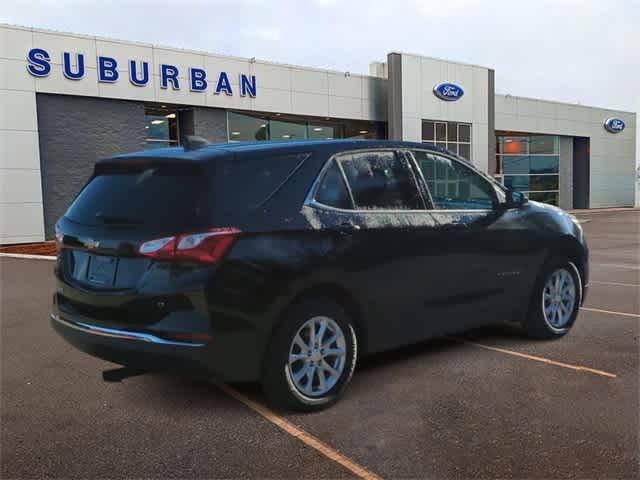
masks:
<instances>
[{"instance_id":1,"label":"black SUV's lower rear bumper with chrome trim strip","mask_svg":"<svg viewBox=\"0 0 640 480\"><path fill-rule=\"evenodd\" d=\"M148 371L180 372L223 381L259 379L257 349L237 348L238 339L217 335L208 343L177 342L131 329L107 328L54 308L53 329L72 346L94 357ZM246 342L244 342L246 346Z\"/></svg>"}]
</instances>

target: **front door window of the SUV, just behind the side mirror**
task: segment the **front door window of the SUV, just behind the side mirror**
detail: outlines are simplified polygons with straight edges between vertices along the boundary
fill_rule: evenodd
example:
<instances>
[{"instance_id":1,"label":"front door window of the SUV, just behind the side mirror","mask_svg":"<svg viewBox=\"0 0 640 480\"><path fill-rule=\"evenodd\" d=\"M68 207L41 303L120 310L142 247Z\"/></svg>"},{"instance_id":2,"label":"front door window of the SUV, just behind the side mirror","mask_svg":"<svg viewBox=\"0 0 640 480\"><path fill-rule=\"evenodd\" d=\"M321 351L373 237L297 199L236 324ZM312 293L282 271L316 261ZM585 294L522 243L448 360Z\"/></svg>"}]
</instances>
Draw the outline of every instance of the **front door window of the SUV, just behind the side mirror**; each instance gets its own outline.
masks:
<instances>
[{"instance_id":1,"label":"front door window of the SUV, just behind the side mirror","mask_svg":"<svg viewBox=\"0 0 640 480\"><path fill-rule=\"evenodd\" d=\"M413 151L413 156L431 193L433 208L488 210L494 207L493 186L471 168L425 151Z\"/></svg>"}]
</instances>

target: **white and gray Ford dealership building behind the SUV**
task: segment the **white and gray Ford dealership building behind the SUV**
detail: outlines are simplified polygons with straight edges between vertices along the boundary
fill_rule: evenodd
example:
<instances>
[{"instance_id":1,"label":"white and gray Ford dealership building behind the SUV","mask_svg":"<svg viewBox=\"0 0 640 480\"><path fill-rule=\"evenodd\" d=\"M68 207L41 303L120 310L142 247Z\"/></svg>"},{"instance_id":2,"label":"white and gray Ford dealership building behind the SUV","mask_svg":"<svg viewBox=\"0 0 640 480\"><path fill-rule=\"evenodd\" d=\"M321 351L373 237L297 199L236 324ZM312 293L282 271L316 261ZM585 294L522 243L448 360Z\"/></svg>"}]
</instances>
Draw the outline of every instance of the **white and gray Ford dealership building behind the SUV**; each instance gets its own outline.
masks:
<instances>
[{"instance_id":1,"label":"white and gray Ford dealership building behind the SUV","mask_svg":"<svg viewBox=\"0 0 640 480\"><path fill-rule=\"evenodd\" d=\"M435 143L565 209L637 201L635 113L499 95L482 66L380 60L358 75L0 25L0 244L51 239L97 160L185 135Z\"/></svg>"}]
</instances>

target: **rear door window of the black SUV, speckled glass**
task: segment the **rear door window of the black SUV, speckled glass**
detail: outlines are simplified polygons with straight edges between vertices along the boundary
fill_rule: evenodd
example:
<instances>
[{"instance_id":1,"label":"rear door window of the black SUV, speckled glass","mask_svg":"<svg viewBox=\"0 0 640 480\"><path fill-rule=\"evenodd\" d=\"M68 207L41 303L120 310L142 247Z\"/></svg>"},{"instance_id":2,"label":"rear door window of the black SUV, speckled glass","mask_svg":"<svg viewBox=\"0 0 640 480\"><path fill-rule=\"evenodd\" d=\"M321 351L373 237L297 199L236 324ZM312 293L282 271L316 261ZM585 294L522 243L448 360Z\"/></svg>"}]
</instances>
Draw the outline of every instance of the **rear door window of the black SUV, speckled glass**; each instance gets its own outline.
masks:
<instances>
[{"instance_id":1,"label":"rear door window of the black SUV, speckled glass","mask_svg":"<svg viewBox=\"0 0 640 480\"><path fill-rule=\"evenodd\" d=\"M359 209L420 210L422 198L413 173L395 152L371 151L340 156L353 201Z\"/></svg>"}]
</instances>

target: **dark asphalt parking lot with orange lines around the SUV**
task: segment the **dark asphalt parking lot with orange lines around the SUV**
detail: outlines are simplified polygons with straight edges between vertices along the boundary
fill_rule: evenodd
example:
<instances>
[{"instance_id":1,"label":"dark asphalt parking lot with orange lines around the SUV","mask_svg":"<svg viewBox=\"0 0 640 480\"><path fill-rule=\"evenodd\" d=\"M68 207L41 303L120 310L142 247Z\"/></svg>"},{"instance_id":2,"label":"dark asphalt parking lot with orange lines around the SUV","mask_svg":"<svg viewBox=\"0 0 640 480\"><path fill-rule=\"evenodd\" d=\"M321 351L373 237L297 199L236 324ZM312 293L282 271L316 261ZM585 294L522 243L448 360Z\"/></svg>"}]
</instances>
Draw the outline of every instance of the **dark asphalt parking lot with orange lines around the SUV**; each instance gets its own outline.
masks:
<instances>
[{"instance_id":1,"label":"dark asphalt parking lot with orange lines around the SUV","mask_svg":"<svg viewBox=\"0 0 640 480\"><path fill-rule=\"evenodd\" d=\"M589 296L560 341L496 326L362 361L311 415L143 375L49 327L52 262L0 258L2 478L638 478L640 211L579 216Z\"/></svg>"}]
</instances>

